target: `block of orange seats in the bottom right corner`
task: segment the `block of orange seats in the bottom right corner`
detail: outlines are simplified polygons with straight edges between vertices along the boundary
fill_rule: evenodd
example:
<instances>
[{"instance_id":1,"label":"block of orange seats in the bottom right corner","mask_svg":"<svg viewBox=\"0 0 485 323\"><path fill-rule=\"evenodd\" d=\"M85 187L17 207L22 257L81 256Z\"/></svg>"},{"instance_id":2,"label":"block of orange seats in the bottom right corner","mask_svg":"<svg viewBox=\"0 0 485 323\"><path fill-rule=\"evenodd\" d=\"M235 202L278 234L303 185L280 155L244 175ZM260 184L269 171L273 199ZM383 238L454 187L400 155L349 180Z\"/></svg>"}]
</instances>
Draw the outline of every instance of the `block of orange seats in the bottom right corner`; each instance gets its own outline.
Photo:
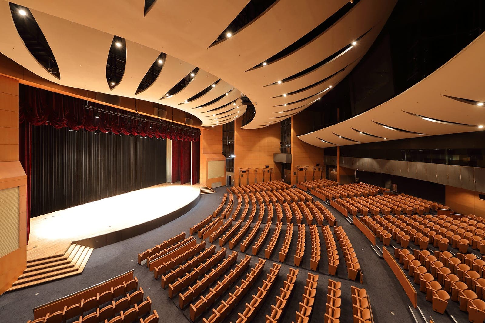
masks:
<instances>
[{"instance_id":1,"label":"block of orange seats in the bottom right corner","mask_svg":"<svg viewBox=\"0 0 485 323\"><path fill-rule=\"evenodd\" d=\"M447 251L435 251L431 255L427 250L414 250L413 254L408 249L394 250L394 257L404 265L408 275L414 277L414 282L420 285L420 291L426 293L426 300L432 302L434 311L443 314L451 299L458 303L461 311L468 312L470 322L483 323L484 267L477 264L477 259L468 258L468 255L457 256L453 257ZM479 260L479 263L483 262ZM482 271L482 274L471 270L469 265L475 266L473 268Z\"/></svg>"}]
</instances>

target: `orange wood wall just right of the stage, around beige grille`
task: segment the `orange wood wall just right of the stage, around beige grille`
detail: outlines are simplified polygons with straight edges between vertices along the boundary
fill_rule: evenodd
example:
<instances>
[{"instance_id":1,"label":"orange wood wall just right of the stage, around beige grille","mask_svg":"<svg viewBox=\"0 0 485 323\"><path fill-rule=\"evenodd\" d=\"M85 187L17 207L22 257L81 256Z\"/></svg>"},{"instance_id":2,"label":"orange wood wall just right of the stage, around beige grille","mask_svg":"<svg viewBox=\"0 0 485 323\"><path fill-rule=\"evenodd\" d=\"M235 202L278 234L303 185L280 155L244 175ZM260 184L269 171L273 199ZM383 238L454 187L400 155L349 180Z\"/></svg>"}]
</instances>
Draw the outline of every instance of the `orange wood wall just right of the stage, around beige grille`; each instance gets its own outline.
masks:
<instances>
[{"instance_id":1,"label":"orange wood wall just right of the stage, around beige grille","mask_svg":"<svg viewBox=\"0 0 485 323\"><path fill-rule=\"evenodd\" d=\"M203 128L200 133L200 184L226 183L226 177L207 178L207 161L226 161L222 154L222 126Z\"/></svg>"}]
</instances>

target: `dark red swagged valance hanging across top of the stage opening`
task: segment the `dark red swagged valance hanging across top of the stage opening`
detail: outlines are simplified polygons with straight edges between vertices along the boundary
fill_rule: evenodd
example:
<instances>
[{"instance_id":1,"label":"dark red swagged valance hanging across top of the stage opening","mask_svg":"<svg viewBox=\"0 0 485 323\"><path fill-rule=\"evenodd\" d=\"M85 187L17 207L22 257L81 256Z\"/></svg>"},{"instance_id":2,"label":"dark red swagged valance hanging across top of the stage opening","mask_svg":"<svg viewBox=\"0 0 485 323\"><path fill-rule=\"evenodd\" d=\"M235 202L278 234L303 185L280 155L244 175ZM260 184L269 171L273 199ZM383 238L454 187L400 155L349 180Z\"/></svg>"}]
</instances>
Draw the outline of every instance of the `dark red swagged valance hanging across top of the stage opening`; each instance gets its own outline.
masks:
<instances>
[{"instance_id":1,"label":"dark red swagged valance hanging across top of the stage opening","mask_svg":"<svg viewBox=\"0 0 485 323\"><path fill-rule=\"evenodd\" d=\"M69 97L34 87L20 85L19 119L20 123L29 122L32 126L50 124L56 129L69 127L74 130L86 129L101 132L113 132L142 137L168 138L181 141L198 141L199 132L189 129L178 129L177 125L158 125L131 119L129 116L121 117L108 113L99 113L85 109L85 100ZM90 103L91 104L91 103ZM104 111L117 109L94 104ZM140 125L139 125L140 124Z\"/></svg>"}]
</instances>

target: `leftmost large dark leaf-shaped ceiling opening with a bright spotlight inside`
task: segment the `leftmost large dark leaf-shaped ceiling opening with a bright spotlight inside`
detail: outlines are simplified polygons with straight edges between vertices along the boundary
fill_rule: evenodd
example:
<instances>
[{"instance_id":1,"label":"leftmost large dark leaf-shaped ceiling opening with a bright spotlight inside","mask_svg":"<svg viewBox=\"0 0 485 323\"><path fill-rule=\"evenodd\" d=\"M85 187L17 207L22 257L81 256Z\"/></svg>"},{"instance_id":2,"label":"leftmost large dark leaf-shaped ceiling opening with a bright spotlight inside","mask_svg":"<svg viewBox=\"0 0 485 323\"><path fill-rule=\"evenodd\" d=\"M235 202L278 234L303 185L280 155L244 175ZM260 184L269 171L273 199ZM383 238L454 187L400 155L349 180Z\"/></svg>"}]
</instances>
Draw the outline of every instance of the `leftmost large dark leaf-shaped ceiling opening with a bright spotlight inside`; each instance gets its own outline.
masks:
<instances>
[{"instance_id":1,"label":"leftmost large dark leaf-shaped ceiling opening with a bright spotlight inside","mask_svg":"<svg viewBox=\"0 0 485 323\"><path fill-rule=\"evenodd\" d=\"M40 65L61 80L61 73L54 54L29 8L11 2L9 2L9 5L15 28L25 47Z\"/></svg>"}]
</instances>

